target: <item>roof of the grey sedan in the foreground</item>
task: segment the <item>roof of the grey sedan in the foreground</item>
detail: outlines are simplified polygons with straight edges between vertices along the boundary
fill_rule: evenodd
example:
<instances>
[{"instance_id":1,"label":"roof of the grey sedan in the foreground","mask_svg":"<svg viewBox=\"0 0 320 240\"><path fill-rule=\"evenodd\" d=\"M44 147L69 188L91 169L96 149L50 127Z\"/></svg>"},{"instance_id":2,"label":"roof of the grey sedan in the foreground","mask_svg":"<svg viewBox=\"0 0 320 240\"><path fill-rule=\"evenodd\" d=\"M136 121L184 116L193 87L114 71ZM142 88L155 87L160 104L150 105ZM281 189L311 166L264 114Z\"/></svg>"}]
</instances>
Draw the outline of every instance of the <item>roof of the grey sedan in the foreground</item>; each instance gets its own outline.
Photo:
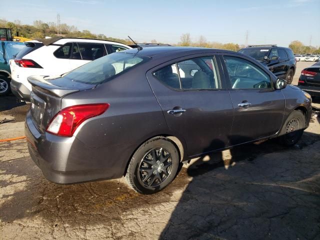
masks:
<instances>
[{"instance_id":1,"label":"roof of the grey sedan in the foreground","mask_svg":"<svg viewBox=\"0 0 320 240\"><path fill-rule=\"evenodd\" d=\"M196 54L202 52L229 52L229 53L237 53L235 51L229 51L224 49L216 49L216 48L205 48L205 47L192 47L192 46L150 46L142 48L142 50L138 50L137 48L132 48L124 51L120 51L124 53L138 54L147 57L161 57L168 56L172 54L176 54L178 52L185 52L189 54Z\"/></svg>"}]
</instances>

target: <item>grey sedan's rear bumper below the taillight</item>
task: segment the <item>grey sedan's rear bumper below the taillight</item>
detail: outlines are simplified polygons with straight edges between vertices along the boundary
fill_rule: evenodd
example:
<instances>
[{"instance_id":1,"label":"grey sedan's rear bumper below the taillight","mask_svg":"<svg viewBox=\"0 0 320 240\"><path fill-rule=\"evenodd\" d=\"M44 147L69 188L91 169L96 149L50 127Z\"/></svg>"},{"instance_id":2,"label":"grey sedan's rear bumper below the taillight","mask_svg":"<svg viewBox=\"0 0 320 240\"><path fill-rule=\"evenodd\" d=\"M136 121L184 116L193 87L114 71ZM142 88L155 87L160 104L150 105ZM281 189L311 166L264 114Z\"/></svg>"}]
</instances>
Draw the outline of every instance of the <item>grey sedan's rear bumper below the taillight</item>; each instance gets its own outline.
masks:
<instances>
[{"instance_id":1,"label":"grey sedan's rear bumper below the taillight","mask_svg":"<svg viewBox=\"0 0 320 240\"><path fill-rule=\"evenodd\" d=\"M130 145L90 148L75 136L41 133L30 112L25 119L25 136L34 163L46 179L59 184L122 177L132 153Z\"/></svg>"}]
</instances>

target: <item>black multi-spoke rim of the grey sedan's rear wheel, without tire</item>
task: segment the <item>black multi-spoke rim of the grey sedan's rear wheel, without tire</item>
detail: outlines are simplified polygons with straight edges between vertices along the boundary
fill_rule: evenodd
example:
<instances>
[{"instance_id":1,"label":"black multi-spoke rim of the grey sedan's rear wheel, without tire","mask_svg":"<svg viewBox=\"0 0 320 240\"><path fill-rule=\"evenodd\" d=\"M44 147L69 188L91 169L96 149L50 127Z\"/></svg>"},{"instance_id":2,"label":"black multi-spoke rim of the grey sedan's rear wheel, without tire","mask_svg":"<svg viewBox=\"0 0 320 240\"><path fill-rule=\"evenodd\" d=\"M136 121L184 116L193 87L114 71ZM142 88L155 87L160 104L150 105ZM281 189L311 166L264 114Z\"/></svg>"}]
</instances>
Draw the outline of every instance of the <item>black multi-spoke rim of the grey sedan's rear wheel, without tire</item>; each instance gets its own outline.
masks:
<instances>
[{"instance_id":1,"label":"black multi-spoke rim of the grey sedan's rear wheel, without tire","mask_svg":"<svg viewBox=\"0 0 320 240\"><path fill-rule=\"evenodd\" d=\"M172 155L164 147L150 149L138 166L138 177L145 187L156 187L171 174Z\"/></svg>"}]
</instances>

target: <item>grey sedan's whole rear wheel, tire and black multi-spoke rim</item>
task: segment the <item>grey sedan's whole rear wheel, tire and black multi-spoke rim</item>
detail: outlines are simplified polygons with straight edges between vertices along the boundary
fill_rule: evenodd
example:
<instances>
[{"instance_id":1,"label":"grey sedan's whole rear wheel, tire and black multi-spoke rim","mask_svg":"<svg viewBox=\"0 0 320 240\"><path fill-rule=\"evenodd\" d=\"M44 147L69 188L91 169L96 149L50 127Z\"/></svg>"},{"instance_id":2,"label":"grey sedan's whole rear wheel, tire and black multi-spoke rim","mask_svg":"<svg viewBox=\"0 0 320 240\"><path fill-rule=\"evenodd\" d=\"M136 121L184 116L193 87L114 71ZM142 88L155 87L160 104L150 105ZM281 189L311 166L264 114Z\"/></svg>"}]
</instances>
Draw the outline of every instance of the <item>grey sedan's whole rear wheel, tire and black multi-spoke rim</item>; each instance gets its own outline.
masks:
<instances>
[{"instance_id":1,"label":"grey sedan's whole rear wheel, tire and black multi-spoke rim","mask_svg":"<svg viewBox=\"0 0 320 240\"><path fill-rule=\"evenodd\" d=\"M174 179L178 166L179 153L175 145L166 137L156 136L134 152L125 177L138 193L152 194Z\"/></svg>"}]
</instances>

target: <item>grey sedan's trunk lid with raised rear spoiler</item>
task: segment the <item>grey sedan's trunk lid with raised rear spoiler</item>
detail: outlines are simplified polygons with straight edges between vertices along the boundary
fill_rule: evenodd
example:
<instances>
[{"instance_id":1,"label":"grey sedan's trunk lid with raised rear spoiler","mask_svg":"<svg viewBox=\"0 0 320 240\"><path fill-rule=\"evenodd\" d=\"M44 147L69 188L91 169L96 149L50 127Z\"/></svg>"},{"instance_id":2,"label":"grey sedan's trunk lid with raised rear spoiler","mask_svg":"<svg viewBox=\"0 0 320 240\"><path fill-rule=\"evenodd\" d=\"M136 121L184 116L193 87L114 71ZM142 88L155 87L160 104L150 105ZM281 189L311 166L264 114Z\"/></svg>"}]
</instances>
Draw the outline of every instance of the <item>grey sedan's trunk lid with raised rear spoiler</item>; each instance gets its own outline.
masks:
<instances>
[{"instance_id":1,"label":"grey sedan's trunk lid with raised rear spoiler","mask_svg":"<svg viewBox=\"0 0 320 240\"><path fill-rule=\"evenodd\" d=\"M42 133L53 116L60 111L61 99L65 95L91 89L95 86L76 82L64 82L63 86L60 86L59 76L29 76L27 79L32 85L30 93L31 118L36 128Z\"/></svg>"}]
</instances>

